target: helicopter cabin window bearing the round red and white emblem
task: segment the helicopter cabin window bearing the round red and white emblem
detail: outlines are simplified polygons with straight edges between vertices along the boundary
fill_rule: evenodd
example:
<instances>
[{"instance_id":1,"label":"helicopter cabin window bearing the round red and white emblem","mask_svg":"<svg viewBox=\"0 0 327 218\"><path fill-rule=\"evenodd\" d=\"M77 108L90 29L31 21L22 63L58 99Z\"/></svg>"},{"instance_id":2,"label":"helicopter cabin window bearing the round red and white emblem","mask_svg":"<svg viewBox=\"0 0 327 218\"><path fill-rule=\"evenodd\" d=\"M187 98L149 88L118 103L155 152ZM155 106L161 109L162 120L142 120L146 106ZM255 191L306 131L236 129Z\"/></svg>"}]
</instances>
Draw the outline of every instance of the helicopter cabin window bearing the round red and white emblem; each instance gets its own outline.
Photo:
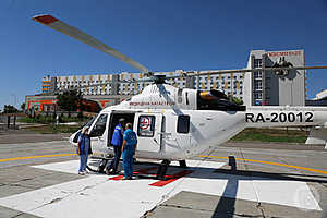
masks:
<instances>
[{"instance_id":1,"label":"helicopter cabin window bearing the round red and white emblem","mask_svg":"<svg viewBox=\"0 0 327 218\"><path fill-rule=\"evenodd\" d=\"M155 116L140 116L137 135L141 137L153 137L155 135Z\"/></svg>"}]
</instances>

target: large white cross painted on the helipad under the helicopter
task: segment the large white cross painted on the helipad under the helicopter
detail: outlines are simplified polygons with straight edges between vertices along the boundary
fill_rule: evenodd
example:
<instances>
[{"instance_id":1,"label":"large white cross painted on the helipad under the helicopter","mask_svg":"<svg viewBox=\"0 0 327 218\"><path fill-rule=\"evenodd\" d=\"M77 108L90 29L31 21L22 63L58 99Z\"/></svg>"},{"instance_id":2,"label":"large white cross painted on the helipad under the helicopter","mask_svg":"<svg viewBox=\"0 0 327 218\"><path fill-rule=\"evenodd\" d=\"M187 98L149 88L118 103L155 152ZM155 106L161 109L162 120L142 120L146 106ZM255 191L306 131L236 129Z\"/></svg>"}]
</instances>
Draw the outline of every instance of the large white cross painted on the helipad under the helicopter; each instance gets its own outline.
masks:
<instances>
[{"instance_id":1,"label":"large white cross painted on the helipad under the helicopter","mask_svg":"<svg viewBox=\"0 0 327 218\"><path fill-rule=\"evenodd\" d=\"M47 218L141 217L181 191L255 202L257 197L254 185L259 202L322 210L304 182L213 172L225 162L187 160L187 165L193 166L192 174L162 187L150 186L149 184L154 182L150 179L112 181L108 180L108 175L88 174L81 180L0 198L0 205ZM78 160L37 166L41 169L69 173L76 173L77 167ZM294 197L299 190L301 196L305 198L305 204Z\"/></svg>"}]
</instances>

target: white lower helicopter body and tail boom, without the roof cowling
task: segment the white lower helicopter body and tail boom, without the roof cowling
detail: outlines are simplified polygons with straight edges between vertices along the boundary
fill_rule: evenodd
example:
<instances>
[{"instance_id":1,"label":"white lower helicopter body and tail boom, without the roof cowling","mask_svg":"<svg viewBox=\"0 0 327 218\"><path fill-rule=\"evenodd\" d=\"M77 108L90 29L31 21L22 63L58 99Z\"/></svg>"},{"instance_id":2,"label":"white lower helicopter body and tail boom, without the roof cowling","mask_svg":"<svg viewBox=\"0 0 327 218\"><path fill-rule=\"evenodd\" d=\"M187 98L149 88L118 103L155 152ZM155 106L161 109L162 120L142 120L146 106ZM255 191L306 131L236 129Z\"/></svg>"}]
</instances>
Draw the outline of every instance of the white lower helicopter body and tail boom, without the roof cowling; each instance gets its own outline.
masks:
<instances>
[{"instance_id":1,"label":"white lower helicopter body and tail boom, without the roof cowling","mask_svg":"<svg viewBox=\"0 0 327 218\"><path fill-rule=\"evenodd\" d=\"M283 109L283 110L282 110ZM119 113L117 113L119 111ZM110 117L133 113L133 130L137 134L136 157L149 159L180 160L198 155L213 146L227 142L246 126L299 126L319 125L327 121L325 108L254 108L249 111L213 111L213 110L104 110L107 114L106 130L102 135L92 137L96 153L108 153L110 148ZM179 133L179 117L189 116L189 131ZM148 119L145 124L142 122ZM154 122L154 123L152 123ZM95 128L97 120L90 126ZM153 125L150 133L142 135L141 130ZM112 128L112 126L111 126Z\"/></svg>"}]
</instances>

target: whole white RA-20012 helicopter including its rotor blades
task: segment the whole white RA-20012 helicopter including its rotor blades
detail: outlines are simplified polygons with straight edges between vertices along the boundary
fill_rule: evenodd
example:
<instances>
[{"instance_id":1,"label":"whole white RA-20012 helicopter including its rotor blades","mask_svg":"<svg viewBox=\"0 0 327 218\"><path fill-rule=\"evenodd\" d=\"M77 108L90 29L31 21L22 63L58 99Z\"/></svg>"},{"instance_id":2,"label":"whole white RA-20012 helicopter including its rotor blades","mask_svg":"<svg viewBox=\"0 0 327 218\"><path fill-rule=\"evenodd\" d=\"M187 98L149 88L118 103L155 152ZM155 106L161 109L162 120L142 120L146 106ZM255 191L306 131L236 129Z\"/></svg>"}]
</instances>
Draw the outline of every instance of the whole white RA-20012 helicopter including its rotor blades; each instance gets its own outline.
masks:
<instances>
[{"instance_id":1,"label":"whole white RA-20012 helicopter including its rotor blades","mask_svg":"<svg viewBox=\"0 0 327 218\"><path fill-rule=\"evenodd\" d=\"M87 123L93 150L96 153L108 154L112 150L109 146L111 134L120 118L133 123L133 130L136 132L138 140L137 158L164 160L162 168L159 169L161 174L166 173L170 161L178 160L180 166L185 167L185 159L197 156L210 147L223 144L245 128L324 126L327 123L326 107L256 106L245 108L229 101L228 97L219 90L201 92L190 88L175 88L165 84L165 80L177 76L165 78L154 75L131 58L51 15L37 15L33 20L124 61L145 73L149 77L147 81L155 82L153 85L145 87L141 94L119 105L105 108ZM266 68L265 70L326 68L292 66ZM247 73L261 70L228 70L197 75L231 72ZM145 80L142 82L145 82ZM78 134L80 131L70 137L72 144L76 143ZM99 171L104 169L104 165L100 167Z\"/></svg>"}]
</instances>

